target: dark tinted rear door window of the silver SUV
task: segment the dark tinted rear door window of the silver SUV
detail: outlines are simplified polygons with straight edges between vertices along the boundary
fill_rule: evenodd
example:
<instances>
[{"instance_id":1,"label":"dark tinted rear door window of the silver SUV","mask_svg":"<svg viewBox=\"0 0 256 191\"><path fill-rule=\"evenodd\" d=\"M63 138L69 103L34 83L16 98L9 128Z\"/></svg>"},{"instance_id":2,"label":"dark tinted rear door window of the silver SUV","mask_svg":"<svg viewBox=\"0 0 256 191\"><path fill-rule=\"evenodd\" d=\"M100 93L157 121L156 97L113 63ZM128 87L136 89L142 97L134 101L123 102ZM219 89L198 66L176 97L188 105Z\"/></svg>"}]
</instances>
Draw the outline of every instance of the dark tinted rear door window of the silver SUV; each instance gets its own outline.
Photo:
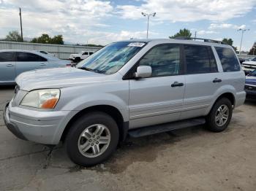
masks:
<instances>
[{"instance_id":1,"label":"dark tinted rear door window of the silver SUV","mask_svg":"<svg viewBox=\"0 0 256 191\"><path fill-rule=\"evenodd\" d=\"M184 46L187 74L217 72L217 63L211 47Z\"/></svg>"}]
</instances>

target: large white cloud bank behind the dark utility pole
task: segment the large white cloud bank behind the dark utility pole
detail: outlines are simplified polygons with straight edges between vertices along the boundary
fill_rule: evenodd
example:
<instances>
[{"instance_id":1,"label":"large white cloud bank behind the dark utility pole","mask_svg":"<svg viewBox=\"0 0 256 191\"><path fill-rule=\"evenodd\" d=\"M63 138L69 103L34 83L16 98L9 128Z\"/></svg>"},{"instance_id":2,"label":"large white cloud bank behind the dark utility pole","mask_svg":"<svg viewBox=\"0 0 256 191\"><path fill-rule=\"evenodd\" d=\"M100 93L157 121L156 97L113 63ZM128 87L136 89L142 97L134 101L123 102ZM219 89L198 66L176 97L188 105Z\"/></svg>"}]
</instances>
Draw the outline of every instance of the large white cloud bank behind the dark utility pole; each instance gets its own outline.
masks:
<instances>
[{"instance_id":1,"label":"large white cloud bank behind the dark utility pole","mask_svg":"<svg viewBox=\"0 0 256 191\"><path fill-rule=\"evenodd\" d=\"M2 0L0 36L19 31L18 7L22 7L25 37L63 34L64 41L75 43L85 43L94 36L91 31L108 28L104 20L111 17L114 9L110 1L99 0Z\"/></svg>"}]
</instances>

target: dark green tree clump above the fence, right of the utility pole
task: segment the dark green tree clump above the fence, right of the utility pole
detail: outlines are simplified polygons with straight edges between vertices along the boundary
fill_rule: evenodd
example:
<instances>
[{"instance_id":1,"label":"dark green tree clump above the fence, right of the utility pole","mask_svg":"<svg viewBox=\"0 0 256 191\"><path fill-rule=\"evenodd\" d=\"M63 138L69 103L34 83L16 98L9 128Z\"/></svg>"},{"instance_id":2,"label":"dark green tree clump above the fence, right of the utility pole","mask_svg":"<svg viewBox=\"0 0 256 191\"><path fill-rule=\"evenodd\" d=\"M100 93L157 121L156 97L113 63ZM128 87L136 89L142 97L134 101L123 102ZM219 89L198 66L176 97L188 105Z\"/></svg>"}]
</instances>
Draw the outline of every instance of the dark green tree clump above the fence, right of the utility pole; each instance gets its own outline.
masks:
<instances>
[{"instance_id":1,"label":"dark green tree clump above the fence, right of the utility pole","mask_svg":"<svg viewBox=\"0 0 256 191\"><path fill-rule=\"evenodd\" d=\"M42 34L39 37L35 37L31 42L42 44L64 44L62 35L56 35L51 38L48 34Z\"/></svg>"}]
</instances>

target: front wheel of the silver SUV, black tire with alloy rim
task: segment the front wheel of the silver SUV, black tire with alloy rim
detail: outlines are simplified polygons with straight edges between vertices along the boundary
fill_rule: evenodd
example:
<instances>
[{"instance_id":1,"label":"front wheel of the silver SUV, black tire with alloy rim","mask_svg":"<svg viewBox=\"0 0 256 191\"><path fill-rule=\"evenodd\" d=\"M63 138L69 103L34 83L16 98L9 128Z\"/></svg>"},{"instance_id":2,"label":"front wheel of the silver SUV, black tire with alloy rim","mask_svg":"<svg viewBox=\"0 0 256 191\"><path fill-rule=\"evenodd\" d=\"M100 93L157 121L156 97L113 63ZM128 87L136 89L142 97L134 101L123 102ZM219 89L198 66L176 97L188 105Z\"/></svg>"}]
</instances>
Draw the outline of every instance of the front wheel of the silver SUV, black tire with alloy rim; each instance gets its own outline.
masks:
<instances>
[{"instance_id":1,"label":"front wheel of the silver SUV, black tire with alloy rim","mask_svg":"<svg viewBox=\"0 0 256 191\"><path fill-rule=\"evenodd\" d=\"M88 167L107 160L116 150L118 139L116 121L103 112L91 112L73 123L67 133L65 147L70 160Z\"/></svg>"}]
</instances>

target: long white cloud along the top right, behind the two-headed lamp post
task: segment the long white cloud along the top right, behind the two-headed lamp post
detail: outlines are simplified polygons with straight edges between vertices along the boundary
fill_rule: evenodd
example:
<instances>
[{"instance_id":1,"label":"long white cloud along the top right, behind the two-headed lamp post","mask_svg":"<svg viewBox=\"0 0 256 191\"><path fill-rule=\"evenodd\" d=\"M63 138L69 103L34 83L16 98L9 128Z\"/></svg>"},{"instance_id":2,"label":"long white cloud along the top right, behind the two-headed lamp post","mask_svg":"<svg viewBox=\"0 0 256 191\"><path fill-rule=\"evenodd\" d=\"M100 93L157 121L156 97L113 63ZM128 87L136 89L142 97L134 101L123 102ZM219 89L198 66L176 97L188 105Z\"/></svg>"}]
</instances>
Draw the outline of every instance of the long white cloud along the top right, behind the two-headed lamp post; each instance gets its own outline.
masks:
<instances>
[{"instance_id":1,"label":"long white cloud along the top right, behind the two-headed lamp post","mask_svg":"<svg viewBox=\"0 0 256 191\"><path fill-rule=\"evenodd\" d=\"M124 19L142 18L141 12L157 12L155 20L191 22L197 20L229 20L252 10L255 0L148 0L140 6L119 5L116 13Z\"/></svg>"}]
</instances>

